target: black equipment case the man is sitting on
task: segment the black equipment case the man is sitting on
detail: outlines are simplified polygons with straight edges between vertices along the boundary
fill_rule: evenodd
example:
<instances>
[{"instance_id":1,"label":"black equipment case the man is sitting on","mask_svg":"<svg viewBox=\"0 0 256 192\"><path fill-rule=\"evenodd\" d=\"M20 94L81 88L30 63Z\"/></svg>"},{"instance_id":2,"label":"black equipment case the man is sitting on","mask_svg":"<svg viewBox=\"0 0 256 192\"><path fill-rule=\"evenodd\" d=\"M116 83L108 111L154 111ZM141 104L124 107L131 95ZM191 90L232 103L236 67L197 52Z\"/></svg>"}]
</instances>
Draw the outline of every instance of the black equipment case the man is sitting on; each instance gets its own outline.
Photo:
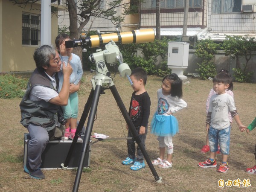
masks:
<instances>
[{"instance_id":1,"label":"black equipment case the man is sitting on","mask_svg":"<svg viewBox=\"0 0 256 192\"><path fill-rule=\"evenodd\" d=\"M81 135L83 139L84 135ZM31 139L28 133L24 134L24 159L23 163L28 161L28 143ZM72 144L73 140L53 140L49 141L47 144L43 154L42 154L42 164L41 169L61 169L61 163L64 163ZM90 141L91 143L91 141ZM81 148L83 143L76 143L74 151L72 152L72 157L70 158L70 162L68 164L67 169L74 169L78 167L78 163L80 160ZM90 149L91 145L89 146L89 150L86 153L84 158L84 167L90 166Z\"/></svg>"}]
</instances>

